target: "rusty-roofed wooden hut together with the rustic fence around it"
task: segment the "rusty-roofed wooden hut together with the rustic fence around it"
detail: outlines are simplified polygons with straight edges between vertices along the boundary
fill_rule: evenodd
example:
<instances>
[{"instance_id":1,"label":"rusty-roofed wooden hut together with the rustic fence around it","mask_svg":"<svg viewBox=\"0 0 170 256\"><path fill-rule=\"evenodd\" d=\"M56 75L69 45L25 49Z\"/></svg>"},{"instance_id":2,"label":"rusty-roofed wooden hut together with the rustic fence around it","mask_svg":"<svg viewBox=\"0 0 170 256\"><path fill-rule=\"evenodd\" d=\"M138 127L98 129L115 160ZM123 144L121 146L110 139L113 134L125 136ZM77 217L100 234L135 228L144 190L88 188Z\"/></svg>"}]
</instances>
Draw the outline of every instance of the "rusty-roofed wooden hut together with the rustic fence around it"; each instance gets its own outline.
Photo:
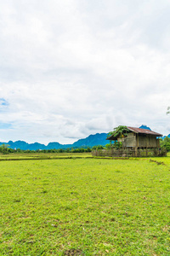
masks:
<instances>
[{"instance_id":1,"label":"rusty-roofed wooden hut together with the rustic fence around it","mask_svg":"<svg viewBox=\"0 0 170 256\"><path fill-rule=\"evenodd\" d=\"M147 157L147 156L166 156L167 151L160 148L159 137L162 135L156 131L142 128L125 126L126 131L121 134L112 134L107 140L120 142L122 147L96 149L92 151L93 156L109 157Z\"/></svg>"}]
</instances>

